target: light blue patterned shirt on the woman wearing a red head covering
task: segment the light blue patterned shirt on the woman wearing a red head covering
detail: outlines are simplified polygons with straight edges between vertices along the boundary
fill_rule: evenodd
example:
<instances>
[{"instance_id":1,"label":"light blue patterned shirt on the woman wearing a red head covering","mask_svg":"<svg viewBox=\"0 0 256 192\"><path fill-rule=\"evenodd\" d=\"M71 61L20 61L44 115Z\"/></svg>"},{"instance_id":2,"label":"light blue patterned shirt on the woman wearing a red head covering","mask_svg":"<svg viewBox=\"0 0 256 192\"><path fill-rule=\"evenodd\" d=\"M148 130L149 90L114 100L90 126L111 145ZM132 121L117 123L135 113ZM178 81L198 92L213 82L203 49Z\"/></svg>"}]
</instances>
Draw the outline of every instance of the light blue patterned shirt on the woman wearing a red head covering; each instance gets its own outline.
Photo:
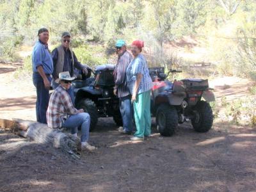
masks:
<instances>
[{"instance_id":1,"label":"light blue patterned shirt on the woman wearing a red head covering","mask_svg":"<svg viewBox=\"0 0 256 192\"><path fill-rule=\"evenodd\" d=\"M131 92L131 94L133 92L133 87L136 81L137 74L143 75L138 88L138 94L151 90L153 83L149 75L147 61L145 60L142 54L138 54L138 56L136 56L136 58L134 58L131 61L131 63L127 67L126 74L127 74L127 83L128 83L129 91Z\"/></svg>"}]
</instances>

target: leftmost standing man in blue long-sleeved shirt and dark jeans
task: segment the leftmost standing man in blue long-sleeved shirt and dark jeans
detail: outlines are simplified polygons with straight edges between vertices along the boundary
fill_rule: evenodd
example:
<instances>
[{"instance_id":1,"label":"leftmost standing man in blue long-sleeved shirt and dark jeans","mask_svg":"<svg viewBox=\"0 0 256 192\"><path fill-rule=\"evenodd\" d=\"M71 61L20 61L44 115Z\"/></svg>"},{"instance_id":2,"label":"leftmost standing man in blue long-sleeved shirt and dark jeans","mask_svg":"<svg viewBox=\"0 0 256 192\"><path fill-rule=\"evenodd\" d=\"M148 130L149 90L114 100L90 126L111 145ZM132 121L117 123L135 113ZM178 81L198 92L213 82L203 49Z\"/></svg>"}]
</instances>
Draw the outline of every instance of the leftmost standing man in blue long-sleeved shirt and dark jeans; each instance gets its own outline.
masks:
<instances>
[{"instance_id":1,"label":"leftmost standing man in blue long-sleeved shirt and dark jeans","mask_svg":"<svg viewBox=\"0 0 256 192\"><path fill-rule=\"evenodd\" d=\"M38 41L32 51L33 84L36 87L36 121L46 122L46 110L49 103L49 88L53 63L48 49L49 31L41 28L38 31Z\"/></svg>"}]
</instances>

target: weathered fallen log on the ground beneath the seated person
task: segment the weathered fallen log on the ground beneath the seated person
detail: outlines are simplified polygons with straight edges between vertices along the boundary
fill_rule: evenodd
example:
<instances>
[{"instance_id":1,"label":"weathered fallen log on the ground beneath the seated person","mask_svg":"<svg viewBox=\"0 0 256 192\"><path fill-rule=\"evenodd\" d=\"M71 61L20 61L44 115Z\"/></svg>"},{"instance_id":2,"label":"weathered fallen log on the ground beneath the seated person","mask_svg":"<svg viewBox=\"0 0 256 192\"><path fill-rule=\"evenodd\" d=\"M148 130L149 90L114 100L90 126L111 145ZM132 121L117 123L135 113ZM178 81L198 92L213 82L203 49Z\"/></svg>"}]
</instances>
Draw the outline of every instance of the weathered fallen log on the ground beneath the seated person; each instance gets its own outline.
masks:
<instances>
[{"instance_id":1,"label":"weathered fallen log on the ground beneath the seated person","mask_svg":"<svg viewBox=\"0 0 256 192\"><path fill-rule=\"evenodd\" d=\"M36 143L49 143L67 152L77 151L78 140L72 140L71 134L65 134L60 129L51 129L46 124L20 119L0 119L0 127Z\"/></svg>"}]
</instances>

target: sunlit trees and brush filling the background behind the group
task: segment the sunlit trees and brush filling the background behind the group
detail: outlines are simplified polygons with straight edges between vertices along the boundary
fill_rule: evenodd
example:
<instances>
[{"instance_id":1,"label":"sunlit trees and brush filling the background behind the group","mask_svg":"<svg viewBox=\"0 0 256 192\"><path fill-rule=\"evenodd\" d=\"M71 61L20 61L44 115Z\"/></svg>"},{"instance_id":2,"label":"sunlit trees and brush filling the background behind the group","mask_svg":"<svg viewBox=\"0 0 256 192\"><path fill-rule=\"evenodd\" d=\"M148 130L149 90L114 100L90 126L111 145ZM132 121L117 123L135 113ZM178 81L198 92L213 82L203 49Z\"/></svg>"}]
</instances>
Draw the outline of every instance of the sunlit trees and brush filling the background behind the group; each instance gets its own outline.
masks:
<instances>
[{"instance_id":1,"label":"sunlit trees and brush filling the background behind the group","mask_svg":"<svg viewBox=\"0 0 256 192\"><path fill-rule=\"evenodd\" d=\"M150 66L212 63L214 74L256 79L253 0L12 0L0 1L0 13L4 62L20 60L17 52L32 47L45 27L51 50L70 31L77 58L92 66L109 62L116 39L128 45L141 39ZM200 56L186 57L180 49ZM23 61L29 71L31 58Z\"/></svg>"}]
</instances>

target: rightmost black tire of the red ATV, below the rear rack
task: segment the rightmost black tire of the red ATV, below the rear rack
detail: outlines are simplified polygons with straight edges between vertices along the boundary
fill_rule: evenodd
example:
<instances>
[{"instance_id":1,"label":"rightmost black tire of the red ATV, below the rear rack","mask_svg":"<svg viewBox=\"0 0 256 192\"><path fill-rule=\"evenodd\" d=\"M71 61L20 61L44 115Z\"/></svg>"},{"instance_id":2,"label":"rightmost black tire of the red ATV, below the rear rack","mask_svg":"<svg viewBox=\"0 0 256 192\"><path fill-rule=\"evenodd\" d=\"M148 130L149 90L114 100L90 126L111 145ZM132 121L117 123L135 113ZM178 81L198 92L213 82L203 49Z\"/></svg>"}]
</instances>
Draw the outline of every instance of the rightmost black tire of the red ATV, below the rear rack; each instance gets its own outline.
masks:
<instances>
[{"instance_id":1,"label":"rightmost black tire of the red ATV, below the rear rack","mask_svg":"<svg viewBox=\"0 0 256 192\"><path fill-rule=\"evenodd\" d=\"M212 108L208 102L201 100L195 106L195 118L191 119L196 132L207 132L212 127Z\"/></svg>"}]
</instances>

